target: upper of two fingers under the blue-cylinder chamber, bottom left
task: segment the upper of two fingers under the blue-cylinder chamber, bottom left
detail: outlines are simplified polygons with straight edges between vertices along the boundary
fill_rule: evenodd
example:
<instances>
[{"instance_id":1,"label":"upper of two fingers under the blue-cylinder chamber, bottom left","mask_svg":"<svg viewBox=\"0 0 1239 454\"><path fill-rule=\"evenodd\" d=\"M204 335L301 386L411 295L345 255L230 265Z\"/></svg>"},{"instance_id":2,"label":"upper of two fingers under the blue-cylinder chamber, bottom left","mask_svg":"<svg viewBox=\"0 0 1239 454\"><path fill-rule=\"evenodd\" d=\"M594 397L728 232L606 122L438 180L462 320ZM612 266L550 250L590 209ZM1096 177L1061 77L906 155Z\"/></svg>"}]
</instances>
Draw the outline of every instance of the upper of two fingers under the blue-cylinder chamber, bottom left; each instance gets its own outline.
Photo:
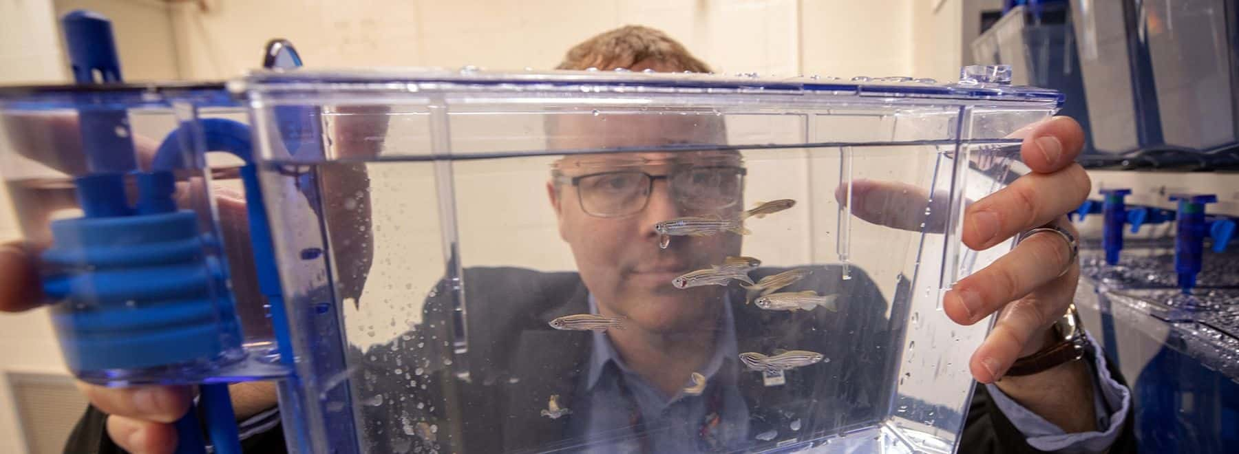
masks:
<instances>
[{"instance_id":1,"label":"upper of two fingers under the blue-cylinder chamber, bottom left","mask_svg":"<svg viewBox=\"0 0 1239 454\"><path fill-rule=\"evenodd\" d=\"M192 400L187 386L103 387L78 383L78 387L104 413L161 423L185 416Z\"/></svg>"}]
</instances>

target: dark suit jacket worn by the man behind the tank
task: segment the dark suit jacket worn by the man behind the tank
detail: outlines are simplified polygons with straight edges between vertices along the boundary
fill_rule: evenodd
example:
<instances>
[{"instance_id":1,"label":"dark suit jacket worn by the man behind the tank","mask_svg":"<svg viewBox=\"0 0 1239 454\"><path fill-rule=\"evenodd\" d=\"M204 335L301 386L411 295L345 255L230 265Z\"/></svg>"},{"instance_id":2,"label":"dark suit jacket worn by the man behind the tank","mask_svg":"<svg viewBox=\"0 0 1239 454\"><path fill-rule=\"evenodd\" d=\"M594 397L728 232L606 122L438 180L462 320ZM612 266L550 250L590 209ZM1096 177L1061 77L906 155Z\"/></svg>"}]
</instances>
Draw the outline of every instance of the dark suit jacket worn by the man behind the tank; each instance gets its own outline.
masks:
<instances>
[{"instance_id":1,"label":"dark suit jacket worn by the man behind the tank","mask_svg":"<svg viewBox=\"0 0 1239 454\"><path fill-rule=\"evenodd\" d=\"M763 268L752 276L756 280L779 271ZM571 408L586 371L589 332L548 325L555 317L587 312L587 291L580 277L575 272L468 268L462 282L463 296L442 291L429 298L422 320L413 330L367 351L349 350L348 364L358 367L349 386L357 396L352 406L359 408L363 452L400 453L420 445L439 452L520 453L570 450L587 443L566 438L571 414L558 419L539 414L550 395L559 395L560 403ZM799 432L781 433L771 442L755 439L746 449L773 448L793 435L804 439L864 428L891 414L897 346L907 313L906 285L888 306L862 271L854 267L851 278L843 280L838 266L817 266L809 278L783 291L799 289L836 293L844 309L762 311L743 304L743 291L732 289L738 351L800 349L830 359L788 371L783 386L764 386L758 372L735 379L748 403L750 434L787 428L792 419L802 419ZM460 297L468 302L467 317L455 309ZM896 317L887 317L888 307ZM466 351L457 353L461 346ZM1119 376L1113 367L1111 374ZM959 417L950 408L939 408L937 414ZM67 452L116 452L102 430L103 418L89 408ZM427 430L431 427L435 432ZM276 428L247 439L244 445L247 452L270 452L282 445L282 434ZM975 388L959 450L1035 452L984 386ZM1111 452L1134 450L1127 418Z\"/></svg>"}]
</instances>

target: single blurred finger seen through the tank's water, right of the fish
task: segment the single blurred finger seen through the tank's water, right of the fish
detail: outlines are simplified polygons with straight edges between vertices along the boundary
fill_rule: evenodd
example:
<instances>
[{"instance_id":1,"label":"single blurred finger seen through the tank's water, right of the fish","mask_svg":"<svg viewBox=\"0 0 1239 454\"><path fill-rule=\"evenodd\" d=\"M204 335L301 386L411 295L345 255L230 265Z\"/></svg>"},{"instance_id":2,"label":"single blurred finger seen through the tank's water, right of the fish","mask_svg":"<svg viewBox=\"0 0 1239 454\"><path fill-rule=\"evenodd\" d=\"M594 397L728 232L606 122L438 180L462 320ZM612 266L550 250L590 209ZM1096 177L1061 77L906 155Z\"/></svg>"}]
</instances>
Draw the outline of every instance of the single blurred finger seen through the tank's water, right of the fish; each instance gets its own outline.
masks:
<instances>
[{"instance_id":1,"label":"single blurred finger seen through the tank's water, right of the fish","mask_svg":"<svg viewBox=\"0 0 1239 454\"><path fill-rule=\"evenodd\" d=\"M885 182L876 179L854 179L851 182L851 203L847 200L847 184L835 188L835 200L844 207L851 205L851 214L869 223L886 225L901 230L942 233L948 197L935 197L918 186ZM926 214L926 209L929 214Z\"/></svg>"}]
</instances>

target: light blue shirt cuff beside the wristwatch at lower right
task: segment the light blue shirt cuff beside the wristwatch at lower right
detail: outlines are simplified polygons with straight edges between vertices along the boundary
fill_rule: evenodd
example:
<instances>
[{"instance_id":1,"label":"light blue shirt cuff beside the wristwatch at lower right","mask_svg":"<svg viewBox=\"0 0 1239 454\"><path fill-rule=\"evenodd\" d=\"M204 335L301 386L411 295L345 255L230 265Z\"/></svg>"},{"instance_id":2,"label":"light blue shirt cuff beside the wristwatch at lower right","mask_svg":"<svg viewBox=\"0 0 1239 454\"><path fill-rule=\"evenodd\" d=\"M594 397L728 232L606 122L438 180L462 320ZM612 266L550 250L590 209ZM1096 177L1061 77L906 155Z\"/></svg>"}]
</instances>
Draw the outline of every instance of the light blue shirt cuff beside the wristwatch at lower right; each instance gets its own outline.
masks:
<instances>
[{"instance_id":1,"label":"light blue shirt cuff beside the wristwatch at lower right","mask_svg":"<svg viewBox=\"0 0 1239 454\"><path fill-rule=\"evenodd\" d=\"M1093 407L1098 416L1097 427L1104 428L1104 430L1067 433L1017 403L997 386L985 385L999 411L1006 414L1007 419L1011 419L1011 424L1025 435L1028 445L1036 449L1053 453L1105 453L1119 438L1123 423L1131 413L1131 391L1110 375L1110 370L1105 367L1105 356L1097 340L1088 333L1084 335L1089 344L1088 351L1092 353L1092 361L1088 361L1088 365L1093 372Z\"/></svg>"}]
</instances>

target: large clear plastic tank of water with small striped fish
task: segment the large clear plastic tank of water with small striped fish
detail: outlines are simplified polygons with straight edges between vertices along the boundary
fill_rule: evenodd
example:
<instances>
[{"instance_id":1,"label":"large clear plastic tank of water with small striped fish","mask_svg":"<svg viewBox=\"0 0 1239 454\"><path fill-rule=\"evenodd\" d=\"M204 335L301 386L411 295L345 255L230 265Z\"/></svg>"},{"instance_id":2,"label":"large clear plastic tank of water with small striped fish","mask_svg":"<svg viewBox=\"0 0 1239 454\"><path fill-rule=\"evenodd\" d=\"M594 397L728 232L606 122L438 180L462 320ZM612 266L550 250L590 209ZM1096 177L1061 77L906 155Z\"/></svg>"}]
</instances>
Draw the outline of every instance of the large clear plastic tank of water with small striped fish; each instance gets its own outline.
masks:
<instances>
[{"instance_id":1,"label":"large clear plastic tank of water with small striped fish","mask_svg":"<svg viewBox=\"0 0 1239 454\"><path fill-rule=\"evenodd\" d=\"M252 74L289 437L950 452L989 323L942 288L1010 249L966 250L963 205L1062 101L965 75Z\"/></svg>"}]
</instances>

